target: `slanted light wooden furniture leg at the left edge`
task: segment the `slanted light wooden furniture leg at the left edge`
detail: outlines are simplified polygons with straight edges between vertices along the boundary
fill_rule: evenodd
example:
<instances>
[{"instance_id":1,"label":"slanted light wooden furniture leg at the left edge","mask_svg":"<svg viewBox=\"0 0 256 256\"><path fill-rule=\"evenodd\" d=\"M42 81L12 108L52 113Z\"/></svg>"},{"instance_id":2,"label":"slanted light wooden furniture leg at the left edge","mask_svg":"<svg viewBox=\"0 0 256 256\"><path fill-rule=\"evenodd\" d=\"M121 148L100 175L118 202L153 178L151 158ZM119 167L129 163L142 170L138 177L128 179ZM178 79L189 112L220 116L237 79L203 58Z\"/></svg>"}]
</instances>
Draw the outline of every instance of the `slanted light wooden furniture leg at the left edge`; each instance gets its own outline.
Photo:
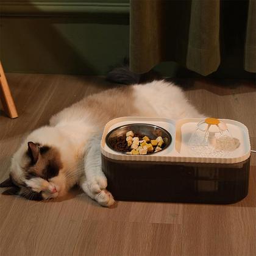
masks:
<instances>
[{"instance_id":1,"label":"slanted light wooden furniture leg at the left edge","mask_svg":"<svg viewBox=\"0 0 256 256\"><path fill-rule=\"evenodd\" d=\"M7 84L7 80L4 74L4 69L2 68L2 64L0 62L0 96L2 106L4 107L5 113L10 116L10 118L18 117L18 113L16 111L15 104L12 99L12 94L10 93L9 85Z\"/></svg>"}]
</instances>

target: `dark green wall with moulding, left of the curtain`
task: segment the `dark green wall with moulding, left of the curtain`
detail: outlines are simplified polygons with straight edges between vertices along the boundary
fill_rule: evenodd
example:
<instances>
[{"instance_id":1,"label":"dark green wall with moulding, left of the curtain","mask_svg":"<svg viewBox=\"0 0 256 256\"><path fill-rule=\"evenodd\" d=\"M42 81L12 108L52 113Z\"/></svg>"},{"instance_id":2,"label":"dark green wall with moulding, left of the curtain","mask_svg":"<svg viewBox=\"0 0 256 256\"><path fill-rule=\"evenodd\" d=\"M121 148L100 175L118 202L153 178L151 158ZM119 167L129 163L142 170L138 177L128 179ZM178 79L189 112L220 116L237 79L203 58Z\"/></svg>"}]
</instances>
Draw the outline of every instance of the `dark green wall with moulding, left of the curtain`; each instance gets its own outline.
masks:
<instances>
[{"instance_id":1,"label":"dark green wall with moulding, left of the curtain","mask_svg":"<svg viewBox=\"0 0 256 256\"><path fill-rule=\"evenodd\" d=\"M1 2L5 71L105 74L129 55L129 0Z\"/></svg>"}]
</instances>

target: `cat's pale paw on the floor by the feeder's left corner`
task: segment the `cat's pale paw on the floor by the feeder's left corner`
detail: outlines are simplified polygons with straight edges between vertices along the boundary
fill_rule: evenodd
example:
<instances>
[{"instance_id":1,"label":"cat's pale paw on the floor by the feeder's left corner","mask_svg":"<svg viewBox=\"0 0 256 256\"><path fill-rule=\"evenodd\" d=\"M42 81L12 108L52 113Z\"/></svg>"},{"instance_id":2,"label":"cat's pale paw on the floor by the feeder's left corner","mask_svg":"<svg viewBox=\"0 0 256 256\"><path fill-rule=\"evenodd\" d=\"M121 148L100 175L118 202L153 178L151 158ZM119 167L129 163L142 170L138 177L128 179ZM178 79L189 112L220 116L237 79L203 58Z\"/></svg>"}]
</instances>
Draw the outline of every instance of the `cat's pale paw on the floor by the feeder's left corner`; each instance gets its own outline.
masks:
<instances>
[{"instance_id":1,"label":"cat's pale paw on the floor by the feeder's left corner","mask_svg":"<svg viewBox=\"0 0 256 256\"><path fill-rule=\"evenodd\" d=\"M93 179L82 183L82 189L99 204L110 207L115 203L112 194L107 191L107 179L102 176L94 176Z\"/></svg>"}]
</instances>

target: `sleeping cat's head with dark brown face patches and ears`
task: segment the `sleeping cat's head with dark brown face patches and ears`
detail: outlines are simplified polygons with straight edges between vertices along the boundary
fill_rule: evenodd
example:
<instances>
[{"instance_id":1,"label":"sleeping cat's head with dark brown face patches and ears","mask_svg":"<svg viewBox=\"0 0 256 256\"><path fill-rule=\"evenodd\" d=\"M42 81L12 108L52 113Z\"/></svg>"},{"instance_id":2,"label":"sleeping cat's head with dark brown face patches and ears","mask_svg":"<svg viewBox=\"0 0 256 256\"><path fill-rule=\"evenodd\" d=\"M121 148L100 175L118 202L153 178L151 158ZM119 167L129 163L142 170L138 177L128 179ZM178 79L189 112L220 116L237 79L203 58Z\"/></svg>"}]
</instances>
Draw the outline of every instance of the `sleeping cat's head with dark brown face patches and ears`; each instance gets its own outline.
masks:
<instances>
[{"instance_id":1,"label":"sleeping cat's head with dark brown face patches and ears","mask_svg":"<svg viewBox=\"0 0 256 256\"><path fill-rule=\"evenodd\" d=\"M23 147L24 148L24 147ZM27 143L12 158L9 179L0 187L12 187L15 194L30 200L43 200L65 194L63 163L56 148Z\"/></svg>"}]
</instances>

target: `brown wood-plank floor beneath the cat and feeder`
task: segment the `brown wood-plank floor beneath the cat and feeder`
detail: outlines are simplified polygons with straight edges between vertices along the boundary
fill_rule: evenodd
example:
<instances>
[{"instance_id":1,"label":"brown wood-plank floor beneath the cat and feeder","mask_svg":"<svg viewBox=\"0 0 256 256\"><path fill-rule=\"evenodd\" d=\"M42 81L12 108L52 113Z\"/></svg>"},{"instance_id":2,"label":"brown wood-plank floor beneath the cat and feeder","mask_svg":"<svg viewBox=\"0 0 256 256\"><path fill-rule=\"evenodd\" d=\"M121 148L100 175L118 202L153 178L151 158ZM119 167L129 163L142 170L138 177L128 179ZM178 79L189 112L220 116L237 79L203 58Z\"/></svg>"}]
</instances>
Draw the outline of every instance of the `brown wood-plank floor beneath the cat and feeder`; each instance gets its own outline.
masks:
<instances>
[{"instance_id":1,"label":"brown wood-plank floor beneath the cat and feeder","mask_svg":"<svg viewBox=\"0 0 256 256\"><path fill-rule=\"evenodd\" d=\"M24 135L85 94L112 87L82 76L7 75L20 117L0 113L0 180ZM256 149L255 84L181 80L209 116L246 124ZM72 191L64 201L32 202L0 194L0 255L256 255L256 154L248 196L233 205L118 202L103 208Z\"/></svg>"}]
</instances>

